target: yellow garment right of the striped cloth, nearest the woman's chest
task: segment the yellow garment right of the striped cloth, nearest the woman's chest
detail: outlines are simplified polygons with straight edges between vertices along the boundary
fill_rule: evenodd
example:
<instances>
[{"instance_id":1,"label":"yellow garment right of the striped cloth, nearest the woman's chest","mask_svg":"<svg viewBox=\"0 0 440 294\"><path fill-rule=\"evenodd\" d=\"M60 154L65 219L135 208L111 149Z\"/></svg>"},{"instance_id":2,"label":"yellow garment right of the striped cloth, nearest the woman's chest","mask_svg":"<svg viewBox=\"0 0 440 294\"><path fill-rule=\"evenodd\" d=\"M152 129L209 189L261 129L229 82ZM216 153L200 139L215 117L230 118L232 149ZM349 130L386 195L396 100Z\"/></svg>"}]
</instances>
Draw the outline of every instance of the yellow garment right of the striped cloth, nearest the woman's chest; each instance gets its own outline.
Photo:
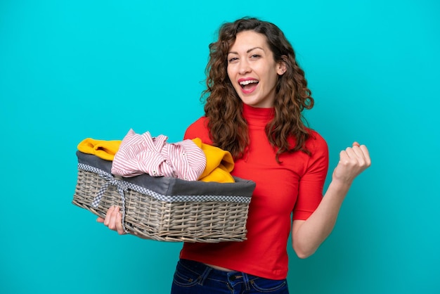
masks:
<instances>
[{"instance_id":1,"label":"yellow garment right of the striped cloth, nearest the woman's chest","mask_svg":"<svg viewBox=\"0 0 440 294\"><path fill-rule=\"evenodd\" d=\"M206 155L206 167L199 177L199 181L217 181L219 183L234 183L231 175L234 161L229 151L202 143L199 138L193 142L202 149Z\"/></svg>"}]
</instances>

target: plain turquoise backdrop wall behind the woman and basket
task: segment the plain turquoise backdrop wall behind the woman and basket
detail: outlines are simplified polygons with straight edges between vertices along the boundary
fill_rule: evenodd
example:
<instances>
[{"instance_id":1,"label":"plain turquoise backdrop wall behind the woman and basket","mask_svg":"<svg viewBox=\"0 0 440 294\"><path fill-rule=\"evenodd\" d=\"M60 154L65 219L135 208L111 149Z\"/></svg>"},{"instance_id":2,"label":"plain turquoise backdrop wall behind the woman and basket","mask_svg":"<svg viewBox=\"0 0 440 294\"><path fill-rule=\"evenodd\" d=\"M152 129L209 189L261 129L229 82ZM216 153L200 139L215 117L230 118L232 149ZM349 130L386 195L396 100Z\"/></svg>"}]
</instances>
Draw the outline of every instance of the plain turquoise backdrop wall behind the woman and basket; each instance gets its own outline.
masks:
<instances>
[{"instance_id":1,"label":"plain turquoise backdrop wall behind the woman and basket","mask_svg":"<svg viewBox=\"0 0 440 294\"><path fill-rule=\"evenodd\" d=\"M77 143L130 128L180 141L208 44L244 15L297 51L329 176L354 140L373 158L318 252L288 245L291 292L440 293L434 0L0 1L0 293L169 293L181 243L118 236L71 204Z\"/></svg>"}]
</instances>

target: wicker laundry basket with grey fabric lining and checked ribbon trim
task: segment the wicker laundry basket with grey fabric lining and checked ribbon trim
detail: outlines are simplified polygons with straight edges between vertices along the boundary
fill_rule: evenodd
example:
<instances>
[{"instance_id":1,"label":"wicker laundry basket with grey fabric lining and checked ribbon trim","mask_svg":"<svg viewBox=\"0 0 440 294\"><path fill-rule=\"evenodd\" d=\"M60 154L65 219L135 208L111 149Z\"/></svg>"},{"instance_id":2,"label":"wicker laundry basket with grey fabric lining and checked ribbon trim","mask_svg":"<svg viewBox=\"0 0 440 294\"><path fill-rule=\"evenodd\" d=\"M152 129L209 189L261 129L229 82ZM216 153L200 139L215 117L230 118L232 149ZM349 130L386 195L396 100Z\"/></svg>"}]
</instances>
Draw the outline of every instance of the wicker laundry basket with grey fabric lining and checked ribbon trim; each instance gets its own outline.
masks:
<instances>
[{"instance_id":1,"label":"wicker laundry basket with grey fabric lining and checked ribbon trim","mask_svg":"<svg viewBox=\"0 0 440 294\"><path fill-rule=\"evenodd\" d=\"M171 177L122 178L112 162L77 151L78 180L72 203L99 217L121 207L124 229L157 241L217 243L246 240L255 183L184 181Z\"/></svg>"}]
</instances>

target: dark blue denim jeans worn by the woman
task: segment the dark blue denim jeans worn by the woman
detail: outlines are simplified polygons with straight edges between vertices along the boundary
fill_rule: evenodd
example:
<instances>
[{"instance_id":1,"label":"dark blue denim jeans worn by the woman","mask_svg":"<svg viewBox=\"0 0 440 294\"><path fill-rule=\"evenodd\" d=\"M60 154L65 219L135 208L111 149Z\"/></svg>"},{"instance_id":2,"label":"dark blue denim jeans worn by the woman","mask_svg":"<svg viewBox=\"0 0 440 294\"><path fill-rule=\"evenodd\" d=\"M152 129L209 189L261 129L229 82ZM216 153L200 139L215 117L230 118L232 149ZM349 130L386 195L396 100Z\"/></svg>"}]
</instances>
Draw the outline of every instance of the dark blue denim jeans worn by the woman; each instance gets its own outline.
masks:
<instances>
[{"instance_id":1,"label":"dark blue denim jeans worn by the woman","mask_svg":"<svg viewBox=\"0 0 440 294\"><path fill-rule=\"evenodd\" d=\"M271 280L241 271L220 271L201 262L179 260L172 294L289 294L287 280Z\"/></svg>"}]
</instances>

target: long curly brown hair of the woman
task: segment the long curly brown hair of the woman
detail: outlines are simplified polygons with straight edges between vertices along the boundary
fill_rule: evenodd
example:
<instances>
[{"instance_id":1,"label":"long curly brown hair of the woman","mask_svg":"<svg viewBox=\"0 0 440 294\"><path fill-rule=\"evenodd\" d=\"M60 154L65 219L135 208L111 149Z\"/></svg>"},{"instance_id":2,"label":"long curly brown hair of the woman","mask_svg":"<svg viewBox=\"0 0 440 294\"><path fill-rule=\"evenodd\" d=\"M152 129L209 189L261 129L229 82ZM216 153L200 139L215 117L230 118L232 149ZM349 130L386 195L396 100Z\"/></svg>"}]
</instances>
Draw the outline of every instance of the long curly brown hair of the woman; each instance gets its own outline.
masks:
<instances>
[{"instance_id":1,"label":"long curly brown hair of the woman","mask_svg":"<svg viewBox=\"0 0 440 294\"><path fill-rule=\"evenodd\" d=\"M208 118L210 137L215 146L230 151L233 158L241 158L249 143L247 123L242 117L242 101L228 77L228 51L239 32L253 30L266 36L276 62L284 62L287 71L278 76L275 117L266 125L268 141L277 148L276 160L281 153L303 151L309 139L309 129L304 125L302 110L313 107L311 91L307 88L304 70L295 60L295 51L284 33L273 23L257 18L240 18L233 23L224 23L219 29L219 39L209 44L209 61L206 67L207 89L205 115ZM288 139L294 139L295 146Z\"/></svg>"}]
</instances>

